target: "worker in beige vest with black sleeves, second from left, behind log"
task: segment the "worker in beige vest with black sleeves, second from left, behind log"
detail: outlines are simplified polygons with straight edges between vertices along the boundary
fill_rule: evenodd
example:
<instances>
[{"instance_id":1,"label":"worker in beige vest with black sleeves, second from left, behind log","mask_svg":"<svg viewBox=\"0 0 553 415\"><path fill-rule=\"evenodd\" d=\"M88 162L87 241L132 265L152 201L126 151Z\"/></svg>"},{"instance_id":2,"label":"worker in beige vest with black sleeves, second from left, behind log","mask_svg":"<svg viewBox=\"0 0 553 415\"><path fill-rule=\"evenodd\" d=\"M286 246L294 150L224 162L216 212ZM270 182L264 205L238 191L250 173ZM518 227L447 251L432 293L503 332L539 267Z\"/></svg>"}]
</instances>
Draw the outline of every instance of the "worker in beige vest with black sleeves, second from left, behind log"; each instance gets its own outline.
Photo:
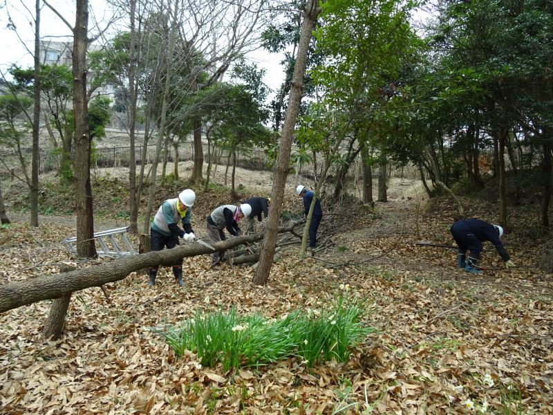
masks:
<instances>
[{"instance_id":1,"label":"worker in beige vest with black sleeves, second from left, behind log","mask_svg":"<svg viewBox=\"0 0 553 415\"><path fill-rule=\"evenodd\" d=\"M234 237L238 237L242 231L238 226L238 222L252 213L252 207L247 203L238 206L222 205L216 208L209 216L207 216L207 234L213 243L225 241L225 228L227 232ZM221 259L225 256L227 250L221 250L210 254L212 257L211 268L221 269Z\"/></svg>"}]
</instances>

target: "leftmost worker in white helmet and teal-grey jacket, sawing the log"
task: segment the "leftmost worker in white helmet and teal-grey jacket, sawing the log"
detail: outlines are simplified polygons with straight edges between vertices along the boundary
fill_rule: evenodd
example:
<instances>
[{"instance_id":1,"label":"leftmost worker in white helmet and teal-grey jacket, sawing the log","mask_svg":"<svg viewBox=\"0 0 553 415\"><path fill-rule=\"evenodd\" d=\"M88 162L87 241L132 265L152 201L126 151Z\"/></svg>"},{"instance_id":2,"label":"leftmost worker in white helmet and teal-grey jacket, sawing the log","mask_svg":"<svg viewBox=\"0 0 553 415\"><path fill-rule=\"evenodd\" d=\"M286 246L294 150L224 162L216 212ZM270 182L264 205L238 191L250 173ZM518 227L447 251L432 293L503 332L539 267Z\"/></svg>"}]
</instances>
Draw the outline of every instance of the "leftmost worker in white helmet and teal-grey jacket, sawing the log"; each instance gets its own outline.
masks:
<instances>
[{"instance_id":1,"label":"leftmost worker in white helmet and teal-grey jacket, sawing the log","mask_svg":"<svg viewBox=\"0 0 553 415\"><path fill-rule=\"evenodd\" d=\"M196 201L194 190L182 190L176 199L168 199L163 202L153 217L150 228L150 249L160 251L163 248L171 249L179 245L179 238L185 241L196 239L191 225L191 208ZM182 228L178 227L178 222L182 222ZM148 285L156 284L158 268L150 268ZM182 258L173 264L173 275L178 285L184 286L182 281Z\"/></svg>"}]
</instances>

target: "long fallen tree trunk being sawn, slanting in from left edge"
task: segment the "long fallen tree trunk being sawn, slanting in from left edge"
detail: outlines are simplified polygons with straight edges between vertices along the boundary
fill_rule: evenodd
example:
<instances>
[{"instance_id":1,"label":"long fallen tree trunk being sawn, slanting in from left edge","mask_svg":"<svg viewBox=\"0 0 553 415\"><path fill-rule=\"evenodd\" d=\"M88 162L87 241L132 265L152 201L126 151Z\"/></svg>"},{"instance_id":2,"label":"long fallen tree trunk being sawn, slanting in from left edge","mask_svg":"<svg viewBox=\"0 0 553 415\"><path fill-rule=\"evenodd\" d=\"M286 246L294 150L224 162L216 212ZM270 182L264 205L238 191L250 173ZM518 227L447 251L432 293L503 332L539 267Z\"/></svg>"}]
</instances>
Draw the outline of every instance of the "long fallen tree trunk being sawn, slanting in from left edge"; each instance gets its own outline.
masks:
<instances>
[{"instance_id":1,"label":"long fallen tree trunk being sawn, slanting in from left edge","mask_svg":"<svg viewBox=\"0 0 553 415\"><path fill-rule=\"evenodd\" d=\"M279 232L290 232L296 223L289 223L279 229ZM252 234L245 237L233 237L226 241L214 243L216 250L225 250L243 243L252 243L263 239L264 234ZM124 279L130 273L142 268L158 265L170 266L177 259L195 257L213 252L199 243L186 243L173 249L147 252L140 255L131 255L117 259L108 264L84 268L46 277L26 279L0 285L0 313L13 308L26 306L44 299L56 299L70 295L74 291L95 286L102 286L109 282Z\"/></svg>"}]
</instances>

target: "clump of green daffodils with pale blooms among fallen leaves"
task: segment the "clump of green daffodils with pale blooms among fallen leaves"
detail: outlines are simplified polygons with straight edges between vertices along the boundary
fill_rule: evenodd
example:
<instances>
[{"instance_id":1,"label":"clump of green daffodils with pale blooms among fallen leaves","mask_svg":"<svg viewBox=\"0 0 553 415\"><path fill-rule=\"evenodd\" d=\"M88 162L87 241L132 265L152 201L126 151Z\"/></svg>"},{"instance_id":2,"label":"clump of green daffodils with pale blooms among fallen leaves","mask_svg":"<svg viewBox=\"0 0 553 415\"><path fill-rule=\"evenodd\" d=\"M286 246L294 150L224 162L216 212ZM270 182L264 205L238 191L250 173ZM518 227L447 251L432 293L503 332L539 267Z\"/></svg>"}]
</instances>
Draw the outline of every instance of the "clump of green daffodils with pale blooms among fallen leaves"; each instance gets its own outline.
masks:
<instances>
[{"instance_id":1,"label":"clump of green daffodils with pale blooms among fallen leaves","mask_svg":"<svg viewBox=\"0 0 553 415\"><path fill-rule=\"evenodd\" d=\"M165 341L182 356L193 351L198 365L223 370L232 367L259 366L299 356L301 363L312 367L335 358L347 362L352 347L375 331L366 326L366 303L349 299L342 288L330 302L317 310L297 310L279 319L259 314L238 315L234 308L223 313L196 313L180 326L164 334Z\"/></svg>"}]
</instances>

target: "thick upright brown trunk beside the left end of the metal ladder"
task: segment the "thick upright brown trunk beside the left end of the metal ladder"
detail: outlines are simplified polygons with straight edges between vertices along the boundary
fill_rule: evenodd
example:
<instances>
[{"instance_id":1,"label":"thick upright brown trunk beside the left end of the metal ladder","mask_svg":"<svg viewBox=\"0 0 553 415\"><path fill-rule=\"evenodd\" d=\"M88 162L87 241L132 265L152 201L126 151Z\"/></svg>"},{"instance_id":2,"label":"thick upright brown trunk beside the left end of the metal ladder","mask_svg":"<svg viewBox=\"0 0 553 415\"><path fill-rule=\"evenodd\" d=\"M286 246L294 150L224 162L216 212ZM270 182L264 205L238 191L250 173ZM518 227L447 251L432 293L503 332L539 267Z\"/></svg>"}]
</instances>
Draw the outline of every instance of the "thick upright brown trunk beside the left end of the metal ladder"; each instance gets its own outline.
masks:
<instances>
[{"instance_id":1,"label":"thick upright brown trunk beside the left end of the metal ladder","mask_svg":"<svg viewBox=\"0 0 553 415\"><path fill-rule=\"evenodd\" d=\"M77 254L96 257L91 189L91 134L86 95L86 49L88 48L88 0L77 0L73 29L73 112L75 114L75 208Z\"/></svg>"}]
</instances>

